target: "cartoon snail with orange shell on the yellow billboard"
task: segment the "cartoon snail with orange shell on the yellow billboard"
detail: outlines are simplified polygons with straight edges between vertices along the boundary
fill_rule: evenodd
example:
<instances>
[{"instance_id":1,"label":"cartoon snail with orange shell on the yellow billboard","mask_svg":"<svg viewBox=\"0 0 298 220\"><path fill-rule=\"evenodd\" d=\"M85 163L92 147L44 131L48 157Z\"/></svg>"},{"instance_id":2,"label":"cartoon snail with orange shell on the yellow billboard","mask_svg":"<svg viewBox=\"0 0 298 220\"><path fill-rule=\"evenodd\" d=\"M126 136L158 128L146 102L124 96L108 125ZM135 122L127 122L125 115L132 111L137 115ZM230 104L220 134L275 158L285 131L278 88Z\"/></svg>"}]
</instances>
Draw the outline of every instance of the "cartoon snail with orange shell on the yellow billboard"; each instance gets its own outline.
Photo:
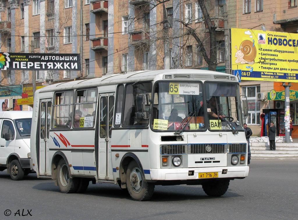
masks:
<instances>
[{"instance_id":1,"label":"cartoon snail with orange shell on the yellow billboard","mask_svg":"<svg viewBox=\"0 0 298 220\"><path fill-rule=\"evenodd\" d=\"M257 49L254 47L254 43L249 40L242 41L240 44L239 50L237 46L235 46L237 52L235 53L235 57L237 58L235 63L248 63L254 64L254 59L257 55Z\"/></svg>"}]
</instances>

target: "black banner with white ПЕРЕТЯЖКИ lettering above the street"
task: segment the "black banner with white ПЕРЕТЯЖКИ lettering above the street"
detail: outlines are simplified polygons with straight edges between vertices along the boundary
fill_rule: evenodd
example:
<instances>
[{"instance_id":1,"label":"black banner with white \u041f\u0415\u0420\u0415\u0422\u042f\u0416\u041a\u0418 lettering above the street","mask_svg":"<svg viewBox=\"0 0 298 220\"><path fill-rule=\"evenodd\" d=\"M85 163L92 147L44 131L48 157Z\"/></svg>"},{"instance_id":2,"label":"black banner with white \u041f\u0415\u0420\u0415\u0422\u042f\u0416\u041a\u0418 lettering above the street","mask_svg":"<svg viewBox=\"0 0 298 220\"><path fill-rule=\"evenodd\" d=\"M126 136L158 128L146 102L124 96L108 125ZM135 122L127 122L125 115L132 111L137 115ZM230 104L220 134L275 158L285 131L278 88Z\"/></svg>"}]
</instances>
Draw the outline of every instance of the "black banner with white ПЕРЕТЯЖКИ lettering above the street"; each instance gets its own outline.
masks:
<instances>
[{"instance_id":1,"label":"black banner with white \u041f\u0415\u0420\u0415\u0422\u042f\u0416\u041a\u0418 lettering above the street","mask_svg":"<svg viewBox=\"0 0 298 220\"><path fill-rule=\"evenodd\" d=\"M81 70L79 54L1 53L0 70Z\"/></svg>"}]
</instances>

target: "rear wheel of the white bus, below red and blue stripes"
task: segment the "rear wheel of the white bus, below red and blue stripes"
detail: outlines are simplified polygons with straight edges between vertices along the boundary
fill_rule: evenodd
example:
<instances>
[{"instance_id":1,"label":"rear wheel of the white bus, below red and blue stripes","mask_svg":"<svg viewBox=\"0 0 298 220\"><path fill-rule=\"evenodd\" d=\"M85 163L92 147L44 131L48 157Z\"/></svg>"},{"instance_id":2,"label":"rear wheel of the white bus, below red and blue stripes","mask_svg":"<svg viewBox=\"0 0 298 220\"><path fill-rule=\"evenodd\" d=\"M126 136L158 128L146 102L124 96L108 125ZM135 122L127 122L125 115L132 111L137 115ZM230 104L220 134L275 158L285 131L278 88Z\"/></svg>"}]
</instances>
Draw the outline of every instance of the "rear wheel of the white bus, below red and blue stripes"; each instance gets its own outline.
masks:
<instances>
[{"instance_id":1,"label":"rear wheel of the white bus, below red and blue stripes","mask_svg":"<svg viewBox=\"0 0 298 220\"><path fill-rule=\"evenodd\" d=\"M68 165L61 159L57 167L57 183L61 193L74 193L79 187L78 178L70 178Z\"/></svg>"}]
</instances>

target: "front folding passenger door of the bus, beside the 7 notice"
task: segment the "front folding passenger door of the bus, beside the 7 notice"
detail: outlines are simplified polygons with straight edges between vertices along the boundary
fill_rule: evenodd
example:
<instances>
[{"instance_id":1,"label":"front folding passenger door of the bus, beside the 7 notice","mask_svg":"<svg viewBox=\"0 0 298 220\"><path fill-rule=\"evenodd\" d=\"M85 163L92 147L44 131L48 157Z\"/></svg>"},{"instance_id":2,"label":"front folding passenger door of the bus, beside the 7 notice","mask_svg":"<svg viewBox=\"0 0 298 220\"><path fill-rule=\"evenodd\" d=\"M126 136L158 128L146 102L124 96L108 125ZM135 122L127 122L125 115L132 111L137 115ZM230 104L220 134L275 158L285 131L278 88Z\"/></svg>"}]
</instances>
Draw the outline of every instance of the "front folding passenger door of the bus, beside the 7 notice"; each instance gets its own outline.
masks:
<instances>
[{"instance_id":1,"label":"front folding passenger door of the bus, beside the 7 notice","mask_svg":"<svg viewBox=\"0 0 298 220\"><path fill-rule=\"evenodd\" d=\"M99 94L98 179L113 180L111 134L114 113L114 93Z\"/></svg>"}]
</instances>

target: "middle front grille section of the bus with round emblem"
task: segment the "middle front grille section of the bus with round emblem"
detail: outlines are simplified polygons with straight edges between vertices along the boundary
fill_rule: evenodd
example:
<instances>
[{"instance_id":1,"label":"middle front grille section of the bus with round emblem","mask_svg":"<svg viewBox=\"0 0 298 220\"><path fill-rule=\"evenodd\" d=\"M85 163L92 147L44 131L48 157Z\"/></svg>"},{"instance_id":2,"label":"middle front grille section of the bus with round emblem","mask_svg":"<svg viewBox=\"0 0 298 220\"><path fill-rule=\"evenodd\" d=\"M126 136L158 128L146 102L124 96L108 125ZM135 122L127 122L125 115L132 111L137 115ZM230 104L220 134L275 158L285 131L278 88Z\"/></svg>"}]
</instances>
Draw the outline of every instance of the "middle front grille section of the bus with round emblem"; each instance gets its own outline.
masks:
<instances>
[{"instance_id":1,"label":"middle front grille section of the bus with round emblem","mask_svg":"<svg viewBox=\"0 0 298 220\"><path fill-rule=\"evenodd\" d=\"M209 146L209 147L208 147ZM224 154L226 144L189 144L188 154Z\"/></svg>"}]
</instances>

